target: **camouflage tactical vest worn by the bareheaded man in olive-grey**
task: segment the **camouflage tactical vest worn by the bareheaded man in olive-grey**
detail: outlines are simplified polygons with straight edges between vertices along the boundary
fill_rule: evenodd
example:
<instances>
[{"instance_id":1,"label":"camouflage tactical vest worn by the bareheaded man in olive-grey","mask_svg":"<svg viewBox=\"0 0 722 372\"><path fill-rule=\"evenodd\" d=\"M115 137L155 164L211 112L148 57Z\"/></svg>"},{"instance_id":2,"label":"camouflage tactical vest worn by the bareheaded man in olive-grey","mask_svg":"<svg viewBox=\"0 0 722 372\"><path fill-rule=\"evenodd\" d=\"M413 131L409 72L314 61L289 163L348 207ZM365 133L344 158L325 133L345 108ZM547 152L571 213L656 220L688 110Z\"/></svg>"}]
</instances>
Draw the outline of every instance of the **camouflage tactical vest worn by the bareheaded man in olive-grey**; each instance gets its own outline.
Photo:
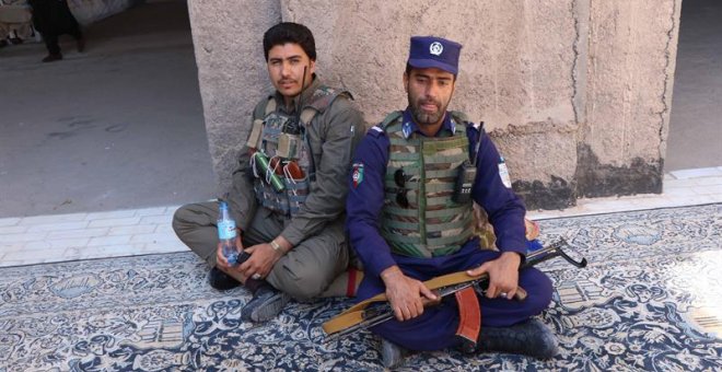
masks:
<instances>
[{"instance_id":1,"label":"camouflage tactical vest worn by the bareheaded man in olive-grey","mask_svg":"<svg viewBox=\"0 0 722 372\"><path fill-rule=\"evenodd\" d=\"M277 193L267 182L267 175L259 172L254 164L254 190L261 206L287 217L298 213L308 195L311 182L315 179L314 158L306 128L311 120L330 106L340 94L349 93L321 85L314 91L310 102L304 103L299 117L279 113L276 109L276 100L272 96L268 98L266 116L263 120L254 121L247 146L261 152L269 163L275 165L269 172L275 172L286 187ZM302 176L293 176L289 165L291 162L300 167Z\"/></svg>"}]
</instances>

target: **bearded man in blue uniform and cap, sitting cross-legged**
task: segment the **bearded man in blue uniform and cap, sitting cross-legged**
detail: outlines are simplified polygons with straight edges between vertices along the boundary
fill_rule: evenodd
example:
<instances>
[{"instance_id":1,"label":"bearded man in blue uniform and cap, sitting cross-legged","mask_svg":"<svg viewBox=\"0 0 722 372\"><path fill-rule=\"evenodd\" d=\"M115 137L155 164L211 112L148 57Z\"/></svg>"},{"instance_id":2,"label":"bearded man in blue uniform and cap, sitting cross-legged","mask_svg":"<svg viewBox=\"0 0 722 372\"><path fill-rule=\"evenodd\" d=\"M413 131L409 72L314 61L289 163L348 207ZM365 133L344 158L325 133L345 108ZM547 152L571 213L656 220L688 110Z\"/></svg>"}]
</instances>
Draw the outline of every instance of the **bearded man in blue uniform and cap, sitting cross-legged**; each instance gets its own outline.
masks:
<instances>
[{"instance_id":1,"label":"bearded man in blue uniform and cap, sitting cross-legged","mask_svg":"<svg viewBox=\"0 0 722 372\"><path fill-rule=\"evenodd\" d=\"M372 127L353 158L347 230L365 269L358 299L385 292L395 314L371 328L382 337L386 367L405 349L462 346L454 297L424 307L439 299L423 281L463 270L489 276L486 297L474 297L480 330L465 351L546 359L557 350L554 334L533 318L551 301L551 282L537 269L520 271L524 204L502 179L499 152L482 127L446 111L461 48L444 38L411 37L408 107ZM487 211L498 251L482 249L473 235L473 201ZM514 299L520 288L523 301Z\"/></svg>"}]
</instances>

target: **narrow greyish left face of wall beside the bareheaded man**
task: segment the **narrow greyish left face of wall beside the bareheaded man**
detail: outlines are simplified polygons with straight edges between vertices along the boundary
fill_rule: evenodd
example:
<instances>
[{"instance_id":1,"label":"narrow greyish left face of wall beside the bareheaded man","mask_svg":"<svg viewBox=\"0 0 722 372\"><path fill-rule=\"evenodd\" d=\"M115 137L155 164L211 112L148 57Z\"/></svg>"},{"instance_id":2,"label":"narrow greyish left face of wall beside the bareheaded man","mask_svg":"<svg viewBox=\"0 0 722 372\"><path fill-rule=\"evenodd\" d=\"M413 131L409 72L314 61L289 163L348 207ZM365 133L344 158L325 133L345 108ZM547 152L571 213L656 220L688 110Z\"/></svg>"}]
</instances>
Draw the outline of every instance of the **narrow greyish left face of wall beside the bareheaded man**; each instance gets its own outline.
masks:
<instances>
[{"instance_id":1,"label":"narrow greyish left face of wall beside the bareheaded man","mask_svg":"<svg viewBox=\"0 0 722 372\"><path fill-rule=\"evenodd\" d=\"M230 185L240 143L248 136L253 107L271 84L263 34L281 22L280 1L188 1L206 132L218 194Z\"/></svg>"}]
</instances>

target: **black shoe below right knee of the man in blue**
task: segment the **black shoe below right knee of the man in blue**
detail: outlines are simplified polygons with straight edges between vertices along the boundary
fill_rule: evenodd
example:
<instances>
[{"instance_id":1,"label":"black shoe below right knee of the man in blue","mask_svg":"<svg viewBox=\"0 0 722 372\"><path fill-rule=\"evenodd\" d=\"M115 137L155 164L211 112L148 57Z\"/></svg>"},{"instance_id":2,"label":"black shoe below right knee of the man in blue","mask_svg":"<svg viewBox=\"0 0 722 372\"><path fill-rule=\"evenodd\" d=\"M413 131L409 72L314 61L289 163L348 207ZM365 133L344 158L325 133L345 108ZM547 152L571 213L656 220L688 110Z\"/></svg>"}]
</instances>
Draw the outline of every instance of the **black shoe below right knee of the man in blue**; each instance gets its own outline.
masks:
<instances>
[{"instance_id":1,"label":"black shoe below right knee of the man in blue","mask_svg":"<svg viewBox=\"0 0 722 372\"><path fill-rule=\"evenodd\" d=\"M557 338L535 318L511 327L482 327L477 349L479 352L500 351L538 359L552 358L557 350Z\"/></svg>"}]
</instances>

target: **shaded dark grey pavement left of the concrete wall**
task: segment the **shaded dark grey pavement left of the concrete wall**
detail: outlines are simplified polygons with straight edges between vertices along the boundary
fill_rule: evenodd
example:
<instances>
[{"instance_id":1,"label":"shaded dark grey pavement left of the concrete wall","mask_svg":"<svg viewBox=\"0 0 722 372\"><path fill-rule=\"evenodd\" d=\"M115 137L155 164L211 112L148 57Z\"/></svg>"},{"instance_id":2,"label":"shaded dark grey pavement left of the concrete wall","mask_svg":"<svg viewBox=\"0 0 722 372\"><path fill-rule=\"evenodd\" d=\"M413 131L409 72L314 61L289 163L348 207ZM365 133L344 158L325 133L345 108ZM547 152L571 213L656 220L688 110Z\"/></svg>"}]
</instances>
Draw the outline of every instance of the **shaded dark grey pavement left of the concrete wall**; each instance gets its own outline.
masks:
<instances>
[{"instance_id":1,"label":"shaded dark grey pavement left of the concrete wall","mask_svg":"<svg viewBox=\"0 0 722 372\"><path fill-rule=\"evenodd\" d=\"M63 39L0 49L0 218L214 196L185 1L150 2Z\"/></svg>"}]
</instances>

